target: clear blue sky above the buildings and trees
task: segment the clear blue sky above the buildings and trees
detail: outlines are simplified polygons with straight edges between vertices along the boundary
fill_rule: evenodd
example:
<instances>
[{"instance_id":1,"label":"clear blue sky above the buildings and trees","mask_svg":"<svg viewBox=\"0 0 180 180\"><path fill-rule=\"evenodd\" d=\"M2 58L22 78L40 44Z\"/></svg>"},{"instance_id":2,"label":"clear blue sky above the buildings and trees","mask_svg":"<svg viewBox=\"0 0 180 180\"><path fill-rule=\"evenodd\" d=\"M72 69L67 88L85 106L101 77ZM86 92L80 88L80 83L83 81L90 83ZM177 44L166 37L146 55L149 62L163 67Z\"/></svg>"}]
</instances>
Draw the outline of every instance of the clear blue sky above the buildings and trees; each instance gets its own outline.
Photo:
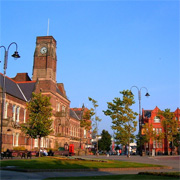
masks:
<instances>
[{"instance_id":1,"label":"clear blue sky above the buildings and trees","mask_svg":"<svg viewBox=\"0 0 180 180\"><path fill-rule=\"evenodd\" d=\"M18 44L21 58L8 58L7 76L32 77L37 36L57 41L57 82L63 82L71 107L88 97L98 101L99 132L111 130L107 102L132 86L142 89L142 108L175 111L179 97L179 1L5 1L0 2L0 45ZM0 51L3 62L4 52ZM3 63L0 63L1 72ZM132 90L138 112L137 89Z\"/></svg>"}]
</instances>

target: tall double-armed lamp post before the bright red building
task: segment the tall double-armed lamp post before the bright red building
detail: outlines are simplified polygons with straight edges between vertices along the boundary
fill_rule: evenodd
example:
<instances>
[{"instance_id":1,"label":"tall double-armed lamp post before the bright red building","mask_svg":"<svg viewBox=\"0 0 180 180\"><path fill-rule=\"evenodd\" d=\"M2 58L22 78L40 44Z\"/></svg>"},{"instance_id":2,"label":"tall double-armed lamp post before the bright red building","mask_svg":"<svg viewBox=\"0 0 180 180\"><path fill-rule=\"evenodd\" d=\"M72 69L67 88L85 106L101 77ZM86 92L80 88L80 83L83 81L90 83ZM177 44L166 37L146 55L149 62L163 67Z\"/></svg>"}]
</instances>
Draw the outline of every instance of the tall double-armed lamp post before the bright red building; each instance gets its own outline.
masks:
<instances>
[{"instance_id":1,"label":"tall double-armed lamp post before the bright red building","mask_svg":"<svg viewBox=\"0 0 180 180\"><path fill-rule=\"evenodd\" d=\"M136 88L138 90L138 100L139 100L139 137L140 137L140 154L142 153L142 146L141 146L141 90L142 89L145 89L146 90L146 94L145 96L146 97L149 97L150 94L148 93L148 89L146 87L141 87L141 88L138 88L137 86L132 86L130 91L132 90L132 88ZM131 91L132 92L132 91Z\"/></svg>"}]
</instances>

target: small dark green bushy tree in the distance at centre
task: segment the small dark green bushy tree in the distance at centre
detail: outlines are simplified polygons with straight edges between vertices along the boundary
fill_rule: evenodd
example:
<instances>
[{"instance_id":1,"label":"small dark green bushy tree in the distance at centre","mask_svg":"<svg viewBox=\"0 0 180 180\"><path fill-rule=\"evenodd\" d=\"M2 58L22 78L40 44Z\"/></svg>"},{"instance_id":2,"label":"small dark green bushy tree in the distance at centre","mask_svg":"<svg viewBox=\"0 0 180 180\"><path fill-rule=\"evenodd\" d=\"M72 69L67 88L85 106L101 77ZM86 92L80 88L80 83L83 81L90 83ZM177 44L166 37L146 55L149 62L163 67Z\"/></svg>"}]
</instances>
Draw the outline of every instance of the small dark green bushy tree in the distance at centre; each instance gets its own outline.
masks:
<instances>
[{"instance_id":1,"label":"small dark green bushy tree in the distance at centre","mask_svg":"<svg viewBox=\"0 0 180 180\"><path fill-rule=\"evenodd\" d=\"M98 143L98 149L101 151L109 151L111 146L111 135L108 131L102 130L101 139Z\"/></svg>"}]
</instances>

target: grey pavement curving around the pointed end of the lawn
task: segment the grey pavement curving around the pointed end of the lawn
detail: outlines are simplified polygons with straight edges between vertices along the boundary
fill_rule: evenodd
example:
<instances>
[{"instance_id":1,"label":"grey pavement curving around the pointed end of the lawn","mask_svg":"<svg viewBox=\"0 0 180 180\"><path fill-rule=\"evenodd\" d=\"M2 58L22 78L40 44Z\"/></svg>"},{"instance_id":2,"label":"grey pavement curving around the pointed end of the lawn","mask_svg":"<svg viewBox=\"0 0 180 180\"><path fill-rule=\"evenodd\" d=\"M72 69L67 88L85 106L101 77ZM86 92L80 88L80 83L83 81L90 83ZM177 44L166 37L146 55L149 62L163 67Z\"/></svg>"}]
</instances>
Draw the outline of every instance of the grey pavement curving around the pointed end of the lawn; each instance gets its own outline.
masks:
<instances>
[{"instance_id":1,"label":"grey pavement curving around the pointed end of the lawn","mask_svg":"<svg viewBox=\"0 0 180 180\"><path fill-rule=\"evenodd\" d=\"M158 164L169 166L171 169L126 169L126 170L111 170L111 171L66 171L66 172L17 172L10 170L1 170L1 180L43 180L48 177L80 177L80 176L100 176L100 175L116 175L116 174L138 174L139 172L172 172L180 171L180 156L78 156L78 158L90 159L113 159L119 161L130 161L145 164Z\"/></svg>"}]
</instances>

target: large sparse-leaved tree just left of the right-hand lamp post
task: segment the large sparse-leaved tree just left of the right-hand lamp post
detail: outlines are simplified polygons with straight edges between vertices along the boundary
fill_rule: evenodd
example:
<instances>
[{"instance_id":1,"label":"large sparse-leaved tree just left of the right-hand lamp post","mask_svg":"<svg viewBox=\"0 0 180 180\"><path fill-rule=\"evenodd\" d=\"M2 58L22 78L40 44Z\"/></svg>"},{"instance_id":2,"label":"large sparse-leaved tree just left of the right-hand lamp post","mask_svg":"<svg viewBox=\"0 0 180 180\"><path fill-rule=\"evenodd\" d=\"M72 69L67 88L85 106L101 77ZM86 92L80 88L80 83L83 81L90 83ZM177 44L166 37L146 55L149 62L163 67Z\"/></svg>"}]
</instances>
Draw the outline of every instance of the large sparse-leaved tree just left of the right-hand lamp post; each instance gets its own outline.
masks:
<instances>
[{"instance_id":1,"label":"large sparse-leaved tree just left of the right-hand lamp post","mask_svg":"<svg viewBox=\"0 0 180 180\"><path fill-rule=\"evenodd\" d=\"M110 116L112 119L112 129L115 130L115 139L117 144L128 145L134 141L137 121L136 116L130 106L134 101L134 95L129 90L121 91L120 94L123 98L116 97L113 102L108 102L108 109L103 111L106 116ZM130 150L130 148L128 148ZM128 157L130 157L130 151L128 150Z\"/></svg>"}]
</instances>

